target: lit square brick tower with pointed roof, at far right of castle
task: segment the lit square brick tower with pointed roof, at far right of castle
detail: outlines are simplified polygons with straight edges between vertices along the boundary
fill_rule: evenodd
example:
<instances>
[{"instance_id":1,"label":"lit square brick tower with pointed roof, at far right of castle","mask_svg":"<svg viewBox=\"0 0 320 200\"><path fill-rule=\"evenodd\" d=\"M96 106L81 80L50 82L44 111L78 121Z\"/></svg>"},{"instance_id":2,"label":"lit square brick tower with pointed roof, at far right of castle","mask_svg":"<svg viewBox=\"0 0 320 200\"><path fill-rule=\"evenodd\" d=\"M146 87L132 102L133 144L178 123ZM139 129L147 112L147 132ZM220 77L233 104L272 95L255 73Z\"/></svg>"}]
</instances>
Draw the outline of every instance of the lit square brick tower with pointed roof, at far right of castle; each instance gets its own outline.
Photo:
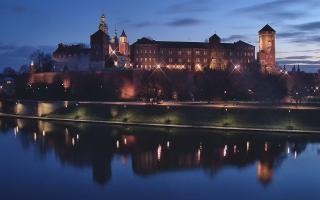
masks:
<instances>
[{"instance_id":1,"label":"lit square brick tower with pointed roof, at far right of castle","mask_svg":"<svg viewBox=\"0 0 320 200\"><path fill-rule=\"evenodd\" d=\"M275 73L276 31L268 24L259 31L259 64L262 72Z\"/></svg>"}]
</instances>

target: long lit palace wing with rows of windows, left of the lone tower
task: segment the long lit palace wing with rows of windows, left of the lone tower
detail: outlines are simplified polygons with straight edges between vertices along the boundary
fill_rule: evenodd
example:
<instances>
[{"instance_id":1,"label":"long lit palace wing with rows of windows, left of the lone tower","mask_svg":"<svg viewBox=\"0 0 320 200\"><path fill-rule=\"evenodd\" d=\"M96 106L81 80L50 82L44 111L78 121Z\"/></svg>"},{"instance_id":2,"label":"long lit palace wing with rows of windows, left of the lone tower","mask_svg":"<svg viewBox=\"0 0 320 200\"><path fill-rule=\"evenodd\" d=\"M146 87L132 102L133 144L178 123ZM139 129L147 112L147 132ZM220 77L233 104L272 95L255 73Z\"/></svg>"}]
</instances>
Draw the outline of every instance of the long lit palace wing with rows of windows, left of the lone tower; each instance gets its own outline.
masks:
<instances>
[{"instance_id":1,"label":"long lit palace wing with rows of windows, left of the lone tower","mask_svg":"<svg viewBox=\"0 0 320 200\"><path fill-rule=\"evenodd\" d=\"M131 60L135 68L166 67L201 71L248 67L255 62L255 47L243 41L222 43L214 34L208 42L168 42L141 38L131 45Z\"/></svg>"}]
</instances>

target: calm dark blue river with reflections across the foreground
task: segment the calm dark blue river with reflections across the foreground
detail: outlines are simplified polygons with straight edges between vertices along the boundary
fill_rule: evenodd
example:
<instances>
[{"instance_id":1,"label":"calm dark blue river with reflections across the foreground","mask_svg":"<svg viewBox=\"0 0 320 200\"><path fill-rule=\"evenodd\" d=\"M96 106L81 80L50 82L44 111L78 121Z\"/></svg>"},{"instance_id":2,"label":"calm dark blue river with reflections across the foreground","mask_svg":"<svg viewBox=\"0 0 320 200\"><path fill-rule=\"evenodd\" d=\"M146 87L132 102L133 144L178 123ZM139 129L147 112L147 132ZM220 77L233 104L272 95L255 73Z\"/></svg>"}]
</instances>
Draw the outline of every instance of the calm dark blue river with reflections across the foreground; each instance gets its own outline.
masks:
<instances>
[{"instance_id":1,"label":"calm dark blue river with reflections across the foreground","mask_svg":"<svg viewBox=\"0 0 320 200\"><path fill-rule=\"evenodd\" d=\"M320 199L320 136L0 118L0 199Z\"/></svg>"}]
</instances>

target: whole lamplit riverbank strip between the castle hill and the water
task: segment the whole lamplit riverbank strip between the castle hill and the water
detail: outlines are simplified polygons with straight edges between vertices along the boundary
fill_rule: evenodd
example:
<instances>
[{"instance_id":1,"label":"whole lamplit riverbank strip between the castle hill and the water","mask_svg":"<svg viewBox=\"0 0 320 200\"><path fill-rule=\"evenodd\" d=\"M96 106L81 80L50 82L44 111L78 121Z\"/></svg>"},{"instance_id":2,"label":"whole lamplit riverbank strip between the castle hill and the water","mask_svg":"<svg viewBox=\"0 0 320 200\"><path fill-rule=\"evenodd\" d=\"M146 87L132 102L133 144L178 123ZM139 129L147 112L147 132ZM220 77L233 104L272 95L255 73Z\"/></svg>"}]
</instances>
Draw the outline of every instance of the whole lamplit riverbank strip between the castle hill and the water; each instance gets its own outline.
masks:
<instances>
[{"instance_id":1,"label":"whole lamplit riverbank strip between the castle hill and the water","mask_svg":"<svg viewBox=\"0 0 320 200\"><path fill-rule=\"evenodd\" d=\"M7 117L112 125L320 133L320 108L314 105L19 101L2 103L1 112Z\"/></svg>"}]
</instances>

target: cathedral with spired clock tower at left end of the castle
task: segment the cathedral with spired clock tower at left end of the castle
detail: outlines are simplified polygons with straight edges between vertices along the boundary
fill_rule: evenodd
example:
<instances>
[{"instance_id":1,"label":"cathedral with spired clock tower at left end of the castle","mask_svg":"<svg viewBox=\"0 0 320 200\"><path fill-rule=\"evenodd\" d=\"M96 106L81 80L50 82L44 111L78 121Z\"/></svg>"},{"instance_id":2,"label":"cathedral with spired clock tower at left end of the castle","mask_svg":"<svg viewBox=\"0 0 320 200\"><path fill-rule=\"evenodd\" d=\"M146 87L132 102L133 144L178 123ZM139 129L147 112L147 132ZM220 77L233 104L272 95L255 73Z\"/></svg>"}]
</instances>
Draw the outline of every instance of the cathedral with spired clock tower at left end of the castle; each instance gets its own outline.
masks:
<instances>
[{"instance_id":1,"label":"cathedral with spired clock tower at left end of the castle","mask_svg":"<svg viewBox=\"0 0 320 200\"><path fill-rule=\"evenodd\" d=\"M54 71L100 71L109 65L110 59L116 67L130 66L130 46L123 31L120 40L110 37L105 15L100 18L99 28L90 36L90 48L85 45L59 44L53 52Z\"/></svg>"}]
</instances>

